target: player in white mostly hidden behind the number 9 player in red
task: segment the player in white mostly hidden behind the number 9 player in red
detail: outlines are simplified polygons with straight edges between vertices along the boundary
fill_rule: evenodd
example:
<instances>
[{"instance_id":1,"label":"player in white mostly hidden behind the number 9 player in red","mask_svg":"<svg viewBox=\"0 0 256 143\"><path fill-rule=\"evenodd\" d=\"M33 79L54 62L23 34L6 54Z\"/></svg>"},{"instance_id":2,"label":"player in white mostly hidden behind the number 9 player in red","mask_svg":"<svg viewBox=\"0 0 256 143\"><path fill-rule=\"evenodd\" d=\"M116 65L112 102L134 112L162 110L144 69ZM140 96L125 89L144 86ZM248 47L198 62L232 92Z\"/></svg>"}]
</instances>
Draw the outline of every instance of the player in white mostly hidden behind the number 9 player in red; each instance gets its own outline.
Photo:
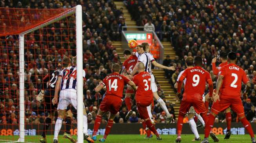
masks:
<instances>
[{"instance_id":1,"label":"player in white mostly hidden behind the number 9 player in red","mask_svg":"<svg viewBox=\"0 0 256 143\"><path fill-rule=\"evenodd\" d=\"M190 69L190 68L193 68L193 57L189 56L187 57L187 59L185 59L185 63L186 63L186 66L187 66L187 69ZM178 88L178 81L181 77L181 75L183 74L184 70L180 72L180 74L178 75L178 78L177 78L177 81L176 83L174 84L174 88ZM183 80L183 84L185 85L186 84L186 79ZM204 126L204 121L203 121L203 118L202 116L200 116L200 114L197 114L194 110L194 107L191 106L190 109L189 109L189 112L188 112L188 118L189 118L189 126L192 130L192 132L194 133L194 136L195 138L192 140L192 141L200 141L201 138L198 134L198 131L196 129L196 122L194 121L194 115L196 115L198 117L198 120L200 120L201 123L203 123L203 126Z\"/></svg>"}]
</instances>

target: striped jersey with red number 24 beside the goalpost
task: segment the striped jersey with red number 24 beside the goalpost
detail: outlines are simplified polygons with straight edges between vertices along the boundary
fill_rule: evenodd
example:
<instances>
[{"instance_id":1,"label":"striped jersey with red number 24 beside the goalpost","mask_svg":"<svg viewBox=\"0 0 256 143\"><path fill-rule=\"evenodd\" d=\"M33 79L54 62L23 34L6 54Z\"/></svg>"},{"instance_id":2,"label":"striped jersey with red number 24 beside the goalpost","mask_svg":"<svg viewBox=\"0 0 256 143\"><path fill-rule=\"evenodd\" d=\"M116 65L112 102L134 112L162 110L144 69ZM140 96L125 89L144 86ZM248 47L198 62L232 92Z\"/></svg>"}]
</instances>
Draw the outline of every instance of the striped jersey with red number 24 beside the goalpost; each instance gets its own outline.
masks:
<instances>
[{"instance_id":1,"label":"striped jersey with red number 24 beside the goalpost","mask_svg":"<svg viewBox=\"0 0 256 143\"><path fill-rule=\"evenodd\" d=\"M60 83L60 90L76 89L76 66L69 66L60 72L62 80ZM85 71L83 70L83 77L85 78Z\"/></svg>"}]
</instances>

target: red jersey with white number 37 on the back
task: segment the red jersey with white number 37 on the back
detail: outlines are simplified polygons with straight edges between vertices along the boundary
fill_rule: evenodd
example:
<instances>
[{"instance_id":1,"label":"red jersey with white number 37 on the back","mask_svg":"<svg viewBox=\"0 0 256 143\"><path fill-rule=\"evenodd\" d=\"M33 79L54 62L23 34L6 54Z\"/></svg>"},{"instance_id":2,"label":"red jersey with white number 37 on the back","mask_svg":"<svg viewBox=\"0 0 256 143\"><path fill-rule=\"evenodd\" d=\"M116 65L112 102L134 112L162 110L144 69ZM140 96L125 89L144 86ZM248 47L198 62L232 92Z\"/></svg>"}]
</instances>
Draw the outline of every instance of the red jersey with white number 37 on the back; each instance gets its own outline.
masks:
<instances>
[{"instance_id":1,"label":"red jersey with white number 37 on the back","mask_svg":"<svg viewBox=\"0 0 256 143\"><path fill-rule=\"evenodd\" d=\"M133 82L138 89L136 91L135 100L137 103L149 103L153 100L153 92L151 90L151 76L148 72L143 71L133 77Z\"/></svg>"}]
</instances>

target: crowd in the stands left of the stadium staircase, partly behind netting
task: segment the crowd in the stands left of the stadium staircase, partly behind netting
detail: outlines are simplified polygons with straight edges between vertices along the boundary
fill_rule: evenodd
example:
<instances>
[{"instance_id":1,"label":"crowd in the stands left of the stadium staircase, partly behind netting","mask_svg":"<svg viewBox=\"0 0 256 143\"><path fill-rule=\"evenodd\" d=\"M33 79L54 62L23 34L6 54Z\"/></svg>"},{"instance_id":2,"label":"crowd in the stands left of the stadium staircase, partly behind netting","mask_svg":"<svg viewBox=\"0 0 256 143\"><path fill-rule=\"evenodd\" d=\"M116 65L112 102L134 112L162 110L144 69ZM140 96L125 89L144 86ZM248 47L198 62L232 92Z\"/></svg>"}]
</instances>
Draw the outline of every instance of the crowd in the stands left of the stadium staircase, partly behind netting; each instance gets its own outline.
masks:
<instances>
[{"instance_id":1,"label":"crowd in the stands left of the stadium staircase, partly behind netting","mask_svg":"<svg viewBox=\"0 0 256 143\"><path fill-rule=\"evenodd\" d=\"M95 92L94 88L100 80L111 73L113 63L122 64L116 53L113 41L120 40L120 31L125 26L122 8L116 9L113 1L76 1L76 0L32 0L18 2L0 2L6 8L71 8L77 4L83 7L83 68L86 72L84 82L84 104L88 114L88 122L94 123L100 102L105 91ZM20 11L20 13L22 13ZM22 19L23 17L20 16ZM75 27L73 16L64 18L47 27L25 35L25 123L44 123L48 116L44 101L38 102L36 95L45 89L43 78L53 70L61 67L62 58L76 55ZM3 21L0 21L4 25ZM159 55L158 55L159 57ZM0 123L16 124L19 103L19 43L17 35L0 38ZM162 95L160 86L159 94ZM125 91L124 91L125 93ZM158 105L156 105L158 106ZM167 103L169 111L173 107ZM73 108L72 108L73 110ZM115 122L140 122L136 104L133 101L133 111L138 120L125 120L127 109L123 102ZM154 109L154 117L160 122L162 109ZM76 113L73 111L73 123L76 123ZM102 122L107 122L108 115ZM53 123L55 121L53 120Z\"/></svg>"}]
</instances>

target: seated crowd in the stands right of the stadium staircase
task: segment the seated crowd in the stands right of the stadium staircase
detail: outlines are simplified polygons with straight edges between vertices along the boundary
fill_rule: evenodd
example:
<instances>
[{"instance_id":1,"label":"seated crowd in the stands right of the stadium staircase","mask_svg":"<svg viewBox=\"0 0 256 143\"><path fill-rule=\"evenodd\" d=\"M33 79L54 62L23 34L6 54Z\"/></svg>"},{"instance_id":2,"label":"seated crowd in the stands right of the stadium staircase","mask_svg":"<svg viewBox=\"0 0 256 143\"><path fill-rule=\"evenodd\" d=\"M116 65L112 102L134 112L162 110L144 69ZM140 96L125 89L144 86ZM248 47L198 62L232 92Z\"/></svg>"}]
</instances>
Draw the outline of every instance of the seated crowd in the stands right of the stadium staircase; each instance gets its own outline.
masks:
<instances>
[{"instance_id":1,"label":"seated crowd in the stands right of the stadium staircase","mask_svg":"<svg viewBox=\"0 0 256 143\"><path fill-rule=\"evenodd\" d=\"M248 120L256 120L255 1L125 0L124 4L138 26L152 27L161 41L172 43L177 56L170 59L167 55L163 61L165 66L176 66L176 71L165 72L172 85L186 68L184 59L196 55L202 56L203 67L216 84L212 59L220 52L236 52L237 64L245 70L252 84L248 98L243 100L245 114ZM236 121L236 114L232 117ZM218 115L218 122L225 122L224 114Z\"/></svg>"}]
</instances>

